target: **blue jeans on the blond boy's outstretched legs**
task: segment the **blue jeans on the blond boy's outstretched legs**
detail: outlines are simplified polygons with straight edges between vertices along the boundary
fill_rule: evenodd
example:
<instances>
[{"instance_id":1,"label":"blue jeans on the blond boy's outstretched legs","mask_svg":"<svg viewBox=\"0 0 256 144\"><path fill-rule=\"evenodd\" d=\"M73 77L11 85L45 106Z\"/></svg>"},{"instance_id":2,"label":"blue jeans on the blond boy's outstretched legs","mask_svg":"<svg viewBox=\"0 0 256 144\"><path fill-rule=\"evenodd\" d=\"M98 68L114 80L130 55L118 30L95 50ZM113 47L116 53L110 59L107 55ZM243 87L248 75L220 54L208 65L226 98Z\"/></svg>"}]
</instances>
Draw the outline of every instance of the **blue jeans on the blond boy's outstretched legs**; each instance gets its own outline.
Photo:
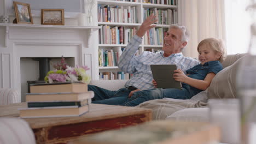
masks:
<instances>
[{"instance_id":1,"label":"blue jeans on the blond boy's outstretched legs","mask_svg":"<svg viewBox=\"0 0 256 144\"><path fill-rule=\"evenodd\" d=\"M143 103L144 101L162 98L190 99L193 95L195 94L193 92L189 92L186 88L155 88L134 92L131 98L127 99L127 101L121 105L136 106Z\"/></svg>"}]
</instances>

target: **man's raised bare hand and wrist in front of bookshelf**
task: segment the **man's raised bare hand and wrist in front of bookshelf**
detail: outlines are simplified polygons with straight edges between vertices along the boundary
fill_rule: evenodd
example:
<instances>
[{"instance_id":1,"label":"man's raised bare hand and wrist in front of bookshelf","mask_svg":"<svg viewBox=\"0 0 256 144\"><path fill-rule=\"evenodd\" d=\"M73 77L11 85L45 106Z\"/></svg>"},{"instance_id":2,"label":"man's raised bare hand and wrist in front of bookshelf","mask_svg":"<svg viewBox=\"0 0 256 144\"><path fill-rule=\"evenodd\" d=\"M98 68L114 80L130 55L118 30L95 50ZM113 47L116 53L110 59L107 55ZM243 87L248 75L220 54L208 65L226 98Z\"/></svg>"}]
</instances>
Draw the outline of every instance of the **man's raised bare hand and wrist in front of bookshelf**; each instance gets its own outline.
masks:
<instances>
[{"instance_id":1,"label":"man's raised bare hand and wrist in front of bookshelf","mask_svg":"<svg viewBox=\"0 0 256 144\"><path fill-rule=\"evenodd\" d=\"M137 31L137 35L138 37L143 37L143 35L150 29L155 27L155 25L152 25L153 23L155 23L156 21L158 21L158 19L156 19L156 15L151 14L142 24L141 27L139 27L138 31Z\"/></svg>"}]
</instances>

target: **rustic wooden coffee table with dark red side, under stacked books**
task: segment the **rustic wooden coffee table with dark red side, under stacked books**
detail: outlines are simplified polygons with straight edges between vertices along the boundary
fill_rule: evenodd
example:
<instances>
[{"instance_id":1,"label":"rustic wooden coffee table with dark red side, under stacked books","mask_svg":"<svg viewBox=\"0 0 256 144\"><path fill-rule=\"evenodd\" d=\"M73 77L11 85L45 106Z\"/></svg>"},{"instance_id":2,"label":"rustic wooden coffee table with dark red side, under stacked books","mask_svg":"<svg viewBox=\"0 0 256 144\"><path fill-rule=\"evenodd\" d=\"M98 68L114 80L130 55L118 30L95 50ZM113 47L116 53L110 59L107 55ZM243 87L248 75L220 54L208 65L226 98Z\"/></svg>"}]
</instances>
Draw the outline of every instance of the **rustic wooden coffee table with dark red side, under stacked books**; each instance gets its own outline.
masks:
<instances>
[{"instance_id":1,"label":"rustic wooden coffee table with dark red side, under stacked books","mask_svg":"<svg viewBox=\"0 0 256 144\"><path fill-rule=\"evenodd\" d=\"M19 117L26 103L0 105L0 117ZM37 143L66 143L78 136L148 122L152 110L139 107L91 104L80 117L24 118L34 131Z\"/></svg>"}]
</instances>

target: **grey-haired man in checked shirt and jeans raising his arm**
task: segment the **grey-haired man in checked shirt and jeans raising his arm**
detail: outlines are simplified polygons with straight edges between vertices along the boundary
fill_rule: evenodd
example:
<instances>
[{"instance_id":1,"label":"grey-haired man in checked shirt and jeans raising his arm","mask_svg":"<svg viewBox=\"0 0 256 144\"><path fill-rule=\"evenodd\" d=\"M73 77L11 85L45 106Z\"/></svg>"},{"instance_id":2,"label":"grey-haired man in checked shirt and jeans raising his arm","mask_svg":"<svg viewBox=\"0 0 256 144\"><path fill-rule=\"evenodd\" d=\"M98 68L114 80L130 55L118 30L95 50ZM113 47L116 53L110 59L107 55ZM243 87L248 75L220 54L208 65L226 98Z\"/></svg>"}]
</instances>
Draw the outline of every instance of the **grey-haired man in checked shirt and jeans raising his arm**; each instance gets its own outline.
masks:
<instances>
[{"instance_id":1,"label":"grey-haired man in checked shirt and jeans raising his arm","mask_svg":"<svg viewBox=\"0 0 256 144\"><path fill-rule=\"evenodd\" d=\"M142 43L143 35L150 29L155 27L152 25L156 22L156 16L150 15L139 27L136 35L127 44L125 50L120 56L118 67L125 73L133 74L130 80L125 83L125 87L118 91L108 91L107 89L89 85L89 91L95 92L92 103L122 105L137 91L153 89L153 75L150 70L151 64L176 64L183 71L194 67L198 64L193 58L184 57L181 53L187 45L189 34L184 26L170 25L168 32L164 38L162 51L153 53L144 51L141 55L135 56L139 45Z\"/></svg>"}]
</instances>

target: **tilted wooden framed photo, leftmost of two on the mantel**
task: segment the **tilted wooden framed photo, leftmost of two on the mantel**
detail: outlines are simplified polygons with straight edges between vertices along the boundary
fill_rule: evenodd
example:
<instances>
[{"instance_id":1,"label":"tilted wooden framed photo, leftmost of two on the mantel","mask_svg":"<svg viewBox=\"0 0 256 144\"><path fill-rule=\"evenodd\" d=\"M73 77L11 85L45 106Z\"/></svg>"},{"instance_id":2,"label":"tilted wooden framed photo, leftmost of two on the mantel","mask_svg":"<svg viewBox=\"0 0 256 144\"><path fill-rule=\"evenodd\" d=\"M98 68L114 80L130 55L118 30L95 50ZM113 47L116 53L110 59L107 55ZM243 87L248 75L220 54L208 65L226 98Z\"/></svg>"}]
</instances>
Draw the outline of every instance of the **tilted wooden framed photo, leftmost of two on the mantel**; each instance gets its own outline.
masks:
<instances>
[{"instance_id":1,"label":"tilted wooden framed photo, leftmost of two on the mantel","mask_svg":"<svg viewBox=\"0 0 256 144\"><path fill-rule=\"evenodd\" d=\"M33 24L30 4L13 2L17 23Z\"/></svg>"}]
</instances>

